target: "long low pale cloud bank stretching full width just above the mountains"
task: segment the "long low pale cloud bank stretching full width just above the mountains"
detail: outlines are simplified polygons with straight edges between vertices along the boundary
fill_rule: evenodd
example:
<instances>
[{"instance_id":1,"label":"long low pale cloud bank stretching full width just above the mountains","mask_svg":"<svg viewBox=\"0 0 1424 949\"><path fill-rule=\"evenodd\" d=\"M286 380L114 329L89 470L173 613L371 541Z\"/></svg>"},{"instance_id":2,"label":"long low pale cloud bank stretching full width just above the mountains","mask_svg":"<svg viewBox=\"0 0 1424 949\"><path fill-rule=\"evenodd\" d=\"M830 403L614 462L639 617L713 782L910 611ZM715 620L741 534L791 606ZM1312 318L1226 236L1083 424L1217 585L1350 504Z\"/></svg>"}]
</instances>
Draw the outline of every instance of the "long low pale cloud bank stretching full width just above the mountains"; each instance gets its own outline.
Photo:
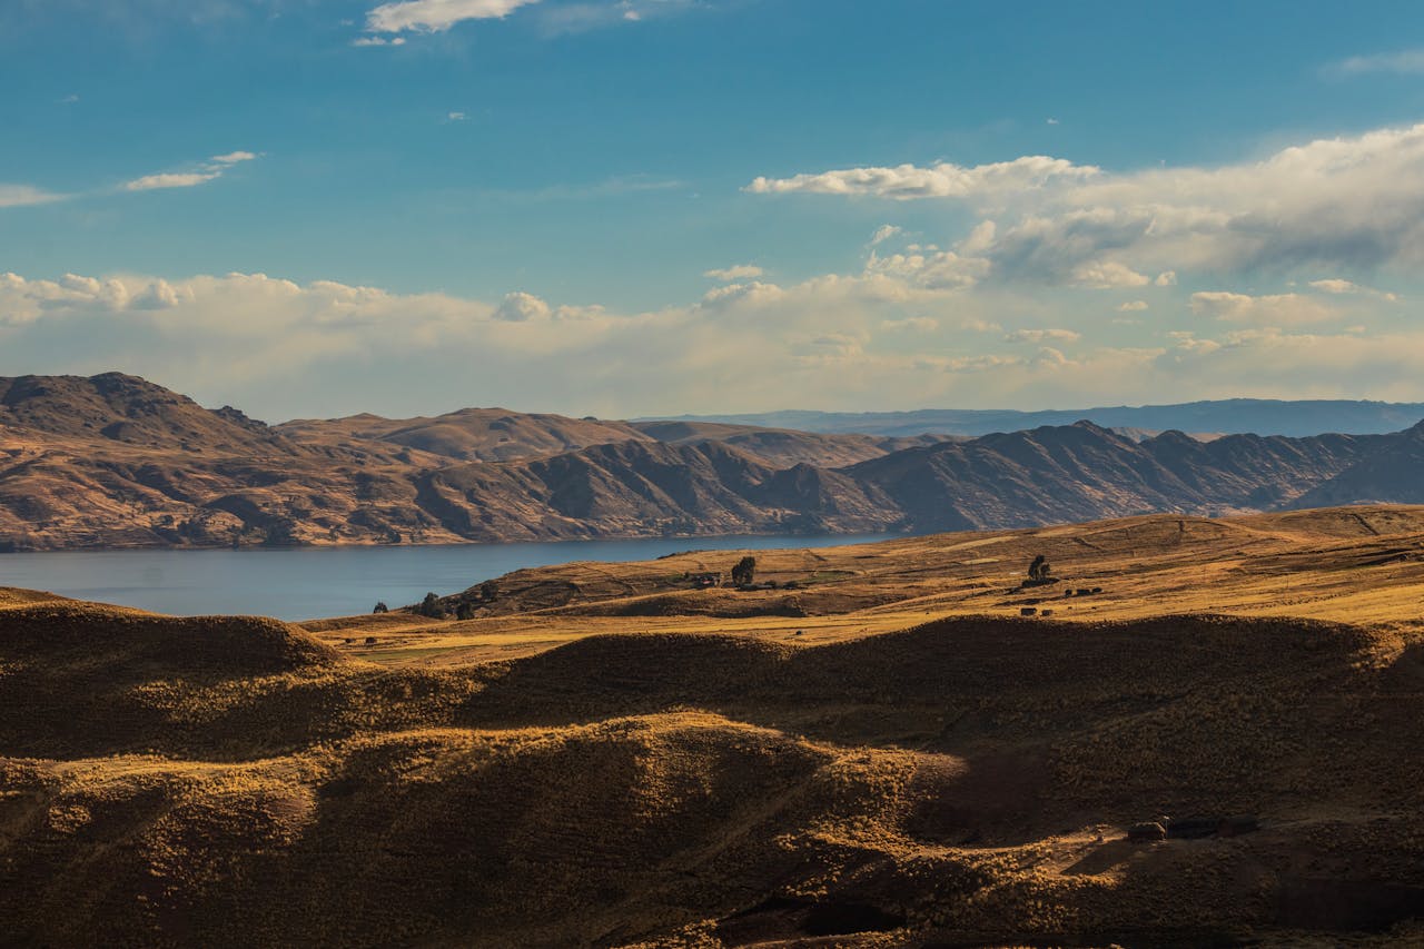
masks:
<instances>
[{"instance_id":1,"label":"long low pale cloud bank stretching full width just above the mountains","mask_svg":"<svg viewBox=\"0 0 1424 949\"><path fill-rule=\"evenodd\" d=\"M1339 306L1354 329L1292 331L1313 316L1306 305ZM1424 328L1377 298L1219 291L1192 308L1226 319L1162 339L1161 328L1105 328L1101 304L1078 294L936 288L913 268L743 281L634 313L527 291L484 302L262 274L11 274L0 275L0 375L122 368L271 420L464 405L617 418L1424 398ZM1007 315L1034 328L1005 331Z\"/></svg>"}]
</instances>

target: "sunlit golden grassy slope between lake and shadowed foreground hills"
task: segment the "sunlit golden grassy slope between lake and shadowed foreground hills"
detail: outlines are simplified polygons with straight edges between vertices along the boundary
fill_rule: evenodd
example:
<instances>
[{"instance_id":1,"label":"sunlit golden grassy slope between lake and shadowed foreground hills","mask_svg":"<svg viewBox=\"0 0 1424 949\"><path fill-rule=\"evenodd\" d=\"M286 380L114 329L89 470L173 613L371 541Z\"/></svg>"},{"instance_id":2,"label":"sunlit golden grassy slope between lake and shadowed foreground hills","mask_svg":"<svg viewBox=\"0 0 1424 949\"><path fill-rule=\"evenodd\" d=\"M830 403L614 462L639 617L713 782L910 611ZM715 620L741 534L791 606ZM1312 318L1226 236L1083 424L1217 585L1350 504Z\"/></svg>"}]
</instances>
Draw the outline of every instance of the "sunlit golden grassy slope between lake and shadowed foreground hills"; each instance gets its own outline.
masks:
<instances>
[{"instance_id":1,"label":"sunlit golden grassy slope between lake and shadowed foreground hills","mask_svg":"<svg viewBox=\"0 0 1424 949\"><path fill-rule=\"evenodd\" d=\"M756 557L758 583L776 588L695 588L698 574L726 573L748 554ZM1024 587L1040 554L1058 581ZM1024 610L1074 621L1178 613L1404 621L1424 616L1424 507L1163 514L823 550L693 551L521 570L443 603L451 614L466 606L476 618L392 614L309 628L352 655L461 663L607 633L728 633L815 644L936 617L1018 617Z\"/></svg>"}]
</instances>

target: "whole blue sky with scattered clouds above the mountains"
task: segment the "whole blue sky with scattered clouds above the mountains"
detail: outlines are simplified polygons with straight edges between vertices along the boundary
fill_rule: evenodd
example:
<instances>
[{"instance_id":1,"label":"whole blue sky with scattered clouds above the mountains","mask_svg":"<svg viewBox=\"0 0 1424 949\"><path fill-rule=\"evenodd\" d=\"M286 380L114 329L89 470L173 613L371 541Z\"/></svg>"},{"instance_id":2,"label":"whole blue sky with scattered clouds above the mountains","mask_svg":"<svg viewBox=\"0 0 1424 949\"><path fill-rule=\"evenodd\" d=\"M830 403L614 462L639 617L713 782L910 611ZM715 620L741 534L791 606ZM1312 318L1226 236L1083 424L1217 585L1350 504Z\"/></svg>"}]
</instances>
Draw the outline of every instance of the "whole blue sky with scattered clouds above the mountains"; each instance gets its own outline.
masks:
<instances>
[{"instance_id":1,"label":"whole blue sky with scattered clouds above the mountains","mask_svg":"<svg viewBox=\"0 0 1424 949\"><path fill-rule=\"evenodd\" d=\"M1424 7L3 0L0 375L256 418L1424 400Z\"/></svg>"}]
</instances>

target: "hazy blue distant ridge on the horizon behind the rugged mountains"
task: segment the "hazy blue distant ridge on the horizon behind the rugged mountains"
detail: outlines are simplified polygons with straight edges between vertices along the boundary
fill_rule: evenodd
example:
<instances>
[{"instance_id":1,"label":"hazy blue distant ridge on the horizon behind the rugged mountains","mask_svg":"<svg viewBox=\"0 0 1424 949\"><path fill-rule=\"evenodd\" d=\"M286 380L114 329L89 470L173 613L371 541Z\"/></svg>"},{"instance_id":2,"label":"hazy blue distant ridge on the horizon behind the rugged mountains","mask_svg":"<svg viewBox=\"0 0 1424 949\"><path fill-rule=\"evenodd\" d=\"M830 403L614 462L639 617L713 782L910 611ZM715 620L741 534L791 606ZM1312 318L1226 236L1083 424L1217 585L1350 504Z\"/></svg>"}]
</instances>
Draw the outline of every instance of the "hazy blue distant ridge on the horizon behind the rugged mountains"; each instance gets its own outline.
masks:
<instances>
[{"instance_id":1,"label":"hazy blue distant ridge on the horizon behind the rugged mountains","mask_svg":"<svg viewBox=\"0 0 1424 949\"><path fill-rule=\"evenodd\" d=\"M1324 433L1387 435L1407 429L1420 419L1424 419L1424 402L1222 399L1179 405L1044 409L1038 412L1014 409L785 410L752 415L684 415L669 416L664 420L897 437L926 433L980 436L1088 420L1105 429L1306 437Z\"/></svg>"}]
</instances>

